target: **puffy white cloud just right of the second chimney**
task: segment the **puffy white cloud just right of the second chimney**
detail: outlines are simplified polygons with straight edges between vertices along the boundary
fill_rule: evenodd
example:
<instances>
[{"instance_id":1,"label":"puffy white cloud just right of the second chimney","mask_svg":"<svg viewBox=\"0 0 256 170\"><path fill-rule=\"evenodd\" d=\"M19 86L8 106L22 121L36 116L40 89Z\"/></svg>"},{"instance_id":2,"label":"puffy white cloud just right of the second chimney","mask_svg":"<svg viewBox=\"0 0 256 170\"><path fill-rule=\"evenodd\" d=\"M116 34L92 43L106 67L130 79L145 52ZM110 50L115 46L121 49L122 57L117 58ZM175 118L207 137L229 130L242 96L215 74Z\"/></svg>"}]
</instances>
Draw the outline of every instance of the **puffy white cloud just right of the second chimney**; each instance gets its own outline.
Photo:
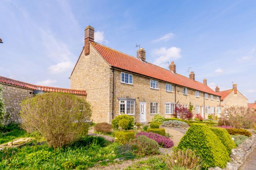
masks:
<instances>
[{"instance_id":1,"label":"puffy white cloud just right of the second chimney","mask_svg":"<svg viewBox=\"0 0 256 170\"><path fill-rule=\"evenodd\" d=\"M178 47L170 47L168 49L166 47L161 47L160 49L154 49L153 55L157 58L153 63L155 65L165 67L167 62L180 58L180 52L181 49Z\"/></svg>"}]
</instances>

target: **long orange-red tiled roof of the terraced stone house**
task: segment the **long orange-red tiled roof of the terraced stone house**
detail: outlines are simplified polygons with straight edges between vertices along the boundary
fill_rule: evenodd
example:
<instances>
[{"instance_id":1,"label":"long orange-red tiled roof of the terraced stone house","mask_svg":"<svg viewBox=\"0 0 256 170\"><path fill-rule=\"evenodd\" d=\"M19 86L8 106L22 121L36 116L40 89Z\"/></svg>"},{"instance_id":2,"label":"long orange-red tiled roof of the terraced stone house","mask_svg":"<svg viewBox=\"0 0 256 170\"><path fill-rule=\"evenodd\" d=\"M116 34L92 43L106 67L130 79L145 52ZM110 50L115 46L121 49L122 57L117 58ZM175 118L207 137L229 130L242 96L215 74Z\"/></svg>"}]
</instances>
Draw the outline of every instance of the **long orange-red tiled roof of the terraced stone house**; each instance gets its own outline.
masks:
<instances>
[{"instance_id":1,"label":"long orange-red tiled roof of the terraced stone house","mask_svg":"<svg viewBox=\"0 0 256 170\"><path fill-rule=\"evenodd\" d=\"M170 70L163 69L151 63L143 62L138 58L99 43L90 43L105 61L113 67L219 96L214 90L201 82L191 80L188 77L170 72Z\"/></svg>"}]
</instances>

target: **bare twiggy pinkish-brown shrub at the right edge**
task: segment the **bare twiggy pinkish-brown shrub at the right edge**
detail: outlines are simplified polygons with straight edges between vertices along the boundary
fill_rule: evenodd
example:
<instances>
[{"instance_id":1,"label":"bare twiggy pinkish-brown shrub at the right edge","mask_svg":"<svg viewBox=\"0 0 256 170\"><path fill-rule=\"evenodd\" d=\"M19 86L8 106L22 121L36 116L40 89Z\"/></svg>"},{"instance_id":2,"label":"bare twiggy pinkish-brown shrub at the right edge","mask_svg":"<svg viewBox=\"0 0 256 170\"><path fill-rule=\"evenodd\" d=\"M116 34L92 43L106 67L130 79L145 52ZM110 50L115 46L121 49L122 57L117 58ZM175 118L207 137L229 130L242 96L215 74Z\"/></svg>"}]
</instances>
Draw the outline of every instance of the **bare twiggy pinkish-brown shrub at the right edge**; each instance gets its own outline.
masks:
<instances>
[{"instance_id":1,"label":"bare twiggy pinkish-brown shrub at the right edge","mask_svg":"<svg viewBox=\"0 0 256 170\"><path fill-rule=\"evenodd\" d=\"M249 129L256 122L256 116L246 107L229 107L222 113L219 125L231 125L233 128Z\"/></svg>"}]
</instances>

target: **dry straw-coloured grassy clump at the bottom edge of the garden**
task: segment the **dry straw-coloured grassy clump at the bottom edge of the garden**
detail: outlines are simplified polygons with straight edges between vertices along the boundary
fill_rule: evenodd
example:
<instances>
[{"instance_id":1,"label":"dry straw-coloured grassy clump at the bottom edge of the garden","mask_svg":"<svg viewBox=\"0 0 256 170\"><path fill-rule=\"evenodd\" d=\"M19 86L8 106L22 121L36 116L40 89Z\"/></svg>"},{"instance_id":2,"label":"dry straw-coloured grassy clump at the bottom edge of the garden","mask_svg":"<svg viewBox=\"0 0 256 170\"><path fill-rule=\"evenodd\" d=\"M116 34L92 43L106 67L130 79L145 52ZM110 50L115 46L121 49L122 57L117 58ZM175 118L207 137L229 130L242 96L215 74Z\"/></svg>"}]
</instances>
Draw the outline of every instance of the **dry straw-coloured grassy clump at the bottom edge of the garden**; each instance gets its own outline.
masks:
<instances>
[{"instance_id":1,"label":"dry straw-coloured grassy clump at the bottom edge of the garden","mask_svg":"<svg viewBox=\"0 0 256 170\"><path fill-rule=\"evenodd\" d=\"M192 150L180 150L175 149L170 154L165 155L165 164L168 169L176 169L176 167L182 167L183 169L201 169L200 158L196 156ZM181 168L181 169L182 169ZM180 168L177 170L181 170Z\"/></svg>"}]
</instances>

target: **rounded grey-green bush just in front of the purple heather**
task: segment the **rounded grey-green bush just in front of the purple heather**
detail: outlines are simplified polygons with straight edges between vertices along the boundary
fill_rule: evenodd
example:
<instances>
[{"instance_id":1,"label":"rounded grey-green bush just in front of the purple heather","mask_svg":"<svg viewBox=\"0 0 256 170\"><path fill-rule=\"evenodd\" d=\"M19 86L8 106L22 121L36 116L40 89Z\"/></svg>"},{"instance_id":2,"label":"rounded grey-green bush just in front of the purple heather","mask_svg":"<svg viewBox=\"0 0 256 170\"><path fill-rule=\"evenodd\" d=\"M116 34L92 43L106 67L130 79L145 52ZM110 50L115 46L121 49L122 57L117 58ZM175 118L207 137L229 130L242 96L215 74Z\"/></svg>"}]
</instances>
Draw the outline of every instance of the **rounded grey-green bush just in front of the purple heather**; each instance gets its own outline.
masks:
<instances>
[{"instance_id":1,"label":"rounded grey-green bush just in front of the purple heather","mask_svg":"<svg viewBox=\"0 0 256 170\"><path fill-rule=\"evenodd\" d=\"M135 148L135 152L140 155L154 155L159 153L158 143L146 136L137 136L130 141L130 144Z\"/></svg>"}]
</instances>

